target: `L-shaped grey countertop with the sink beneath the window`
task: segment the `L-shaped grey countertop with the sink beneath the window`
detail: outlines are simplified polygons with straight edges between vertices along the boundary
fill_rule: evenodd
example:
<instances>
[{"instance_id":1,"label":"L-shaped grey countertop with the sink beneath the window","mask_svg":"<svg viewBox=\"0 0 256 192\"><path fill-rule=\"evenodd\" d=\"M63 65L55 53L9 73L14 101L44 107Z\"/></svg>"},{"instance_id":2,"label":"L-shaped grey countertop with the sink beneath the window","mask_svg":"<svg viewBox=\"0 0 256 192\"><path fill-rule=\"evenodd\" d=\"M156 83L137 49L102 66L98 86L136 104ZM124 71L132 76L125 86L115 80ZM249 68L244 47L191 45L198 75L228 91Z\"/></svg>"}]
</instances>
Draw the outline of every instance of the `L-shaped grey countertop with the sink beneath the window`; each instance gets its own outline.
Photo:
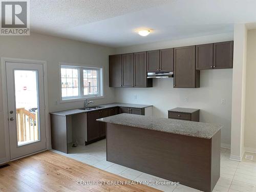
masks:
<instances>
[{"instance_id":1,"label":"L-shaped grey countertop with the sink beneath the window","mask_svg":"<svg viewBox=\"0 0 256 192\"><path fill-rule=\"evenodd\" d=\"M99 105L89 105L88 108L90 108L92 106L103 106L103 108L93 109L93 110L73 109L73 110L51 112L50 114L66 116L66 115L75 115L75 114L78 114L78 113L87 113L87 112L91 112L91 111L114 108L115 106L121 106L121 107L127 107L127 108L140 108L141 109L141 108L147 108L148 106L152 106L152 105L132 104L132 103L108 103L108 104L99 104ZM84 107L81 107L81 108L84 108Z\"/></svg>"}]
</instances>

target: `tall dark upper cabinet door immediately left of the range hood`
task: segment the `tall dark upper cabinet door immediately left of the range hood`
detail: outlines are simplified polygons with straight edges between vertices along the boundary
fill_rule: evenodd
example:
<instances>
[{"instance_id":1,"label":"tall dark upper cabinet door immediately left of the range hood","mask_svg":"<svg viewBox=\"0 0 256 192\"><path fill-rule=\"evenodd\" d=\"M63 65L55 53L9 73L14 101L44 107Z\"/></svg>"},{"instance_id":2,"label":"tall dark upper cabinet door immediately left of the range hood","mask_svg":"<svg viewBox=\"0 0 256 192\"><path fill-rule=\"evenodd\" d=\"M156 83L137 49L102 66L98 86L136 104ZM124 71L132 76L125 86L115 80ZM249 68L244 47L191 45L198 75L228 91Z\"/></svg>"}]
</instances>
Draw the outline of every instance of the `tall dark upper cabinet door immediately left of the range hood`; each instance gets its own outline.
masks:
<instances>
[{"instance_id":1,"label":"tall dark upper cabinet door immediately left of the range hood","mask_svg":"<svg viewBox=\"0 0 256 192\"><path fill-rule=\"evenodd\" d=\"M146 88L146 52L134 53L134 87Z\"/></svg>"}]
</instances>

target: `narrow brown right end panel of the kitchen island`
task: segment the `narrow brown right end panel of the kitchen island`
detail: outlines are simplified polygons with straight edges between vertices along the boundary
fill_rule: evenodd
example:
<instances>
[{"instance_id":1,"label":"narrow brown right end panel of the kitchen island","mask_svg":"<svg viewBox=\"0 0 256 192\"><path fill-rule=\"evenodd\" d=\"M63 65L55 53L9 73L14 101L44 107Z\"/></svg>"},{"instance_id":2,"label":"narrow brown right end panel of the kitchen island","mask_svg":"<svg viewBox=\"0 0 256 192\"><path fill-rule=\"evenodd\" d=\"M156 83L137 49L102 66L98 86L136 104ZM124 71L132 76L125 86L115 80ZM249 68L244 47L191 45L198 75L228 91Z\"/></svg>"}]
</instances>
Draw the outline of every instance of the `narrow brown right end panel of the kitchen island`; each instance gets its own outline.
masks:
<instances>
[{"instance_id":1,"label":"narrow brown right end panel of the kitchen island","mask_svg":"<svg viewBox=\"0 0 256 192\"><path fill-rule=\"evenodd\" d=\"M220 178L221 130L211 138L211 191Z\"/></svg>"}]
</instances>

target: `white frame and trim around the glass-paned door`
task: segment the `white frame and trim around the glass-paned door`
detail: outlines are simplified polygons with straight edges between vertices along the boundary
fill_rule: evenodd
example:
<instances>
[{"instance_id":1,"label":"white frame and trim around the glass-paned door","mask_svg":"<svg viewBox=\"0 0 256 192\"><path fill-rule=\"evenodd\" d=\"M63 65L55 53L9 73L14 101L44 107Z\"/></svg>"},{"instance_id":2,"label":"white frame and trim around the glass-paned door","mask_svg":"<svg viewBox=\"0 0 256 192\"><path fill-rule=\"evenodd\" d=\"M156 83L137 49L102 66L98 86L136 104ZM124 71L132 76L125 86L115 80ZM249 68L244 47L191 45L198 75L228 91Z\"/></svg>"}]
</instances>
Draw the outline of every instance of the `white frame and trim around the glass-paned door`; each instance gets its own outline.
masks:
<instances>
[{"instance_id":1,"label":"white frame and trim around the glass-paned door","mask_svg":"<svg viewBox=\"0 0 256 192\"><path fill-rule=\"evenodd\" d=\"M51 132L50 132L50 118L49 118L49 104L48 104L48 82L47 82L47 61L33 60L33 59L20 59L1 57L1 75L2 75L2 92L3 92L3 115L4 115L4 132L5 132L5 154L4 159L0 159L0 164L9 162L10 159L10 137L9 137L9 123L8 123L8 103L7 103L7 81L6 81L6 62L26 63L42 65L44 69L44 98L45 98L45 125L46 125L46 150L51 148ZM42 150L45 151L45 150ZM40 152L40 151L39 151ZM36 152L36 153L39 153ZM33 153L32 153L33 154ZM31 155L31 154L29 154ZM26 156L29 156L26 155ZM23 156L25 157L25 156ZM19 158L23 158L19 157ZM19 159L16 158L16 159ZM15 159L12 159L13 161Z\"/></svg>"}]
</instances>

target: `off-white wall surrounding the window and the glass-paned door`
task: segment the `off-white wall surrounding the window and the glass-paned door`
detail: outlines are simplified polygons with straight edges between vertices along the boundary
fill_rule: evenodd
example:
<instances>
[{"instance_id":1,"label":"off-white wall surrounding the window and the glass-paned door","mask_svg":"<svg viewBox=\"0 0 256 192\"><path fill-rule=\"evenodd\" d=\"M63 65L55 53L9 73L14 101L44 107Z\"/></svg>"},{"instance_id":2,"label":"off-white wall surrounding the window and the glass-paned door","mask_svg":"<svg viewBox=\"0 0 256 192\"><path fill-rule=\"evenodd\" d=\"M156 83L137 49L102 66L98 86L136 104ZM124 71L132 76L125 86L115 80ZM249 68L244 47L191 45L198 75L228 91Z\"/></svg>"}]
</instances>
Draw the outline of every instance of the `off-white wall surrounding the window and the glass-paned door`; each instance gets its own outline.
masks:
<instances>
[{"instance_id":1,"label":"off-white wall surrounding the window and the glass-paned door","mask_svg":"<svg viewBox=\"0 0 256 192\"><path fill-rule=\"evenodd\" d=\"M114 101L114 88L109 88L109 55L113 52L111 48L36 33L32 33L30 36L0 36L0 42L0 57L47 61L50 112L83 106L83 101L59 103L59 62L73 62L84 66L102 66L105 98L97 99L95 103L101 104ZM0 161L6 157L1 78L0 76Z\"/></svg>"}]
</instances>

